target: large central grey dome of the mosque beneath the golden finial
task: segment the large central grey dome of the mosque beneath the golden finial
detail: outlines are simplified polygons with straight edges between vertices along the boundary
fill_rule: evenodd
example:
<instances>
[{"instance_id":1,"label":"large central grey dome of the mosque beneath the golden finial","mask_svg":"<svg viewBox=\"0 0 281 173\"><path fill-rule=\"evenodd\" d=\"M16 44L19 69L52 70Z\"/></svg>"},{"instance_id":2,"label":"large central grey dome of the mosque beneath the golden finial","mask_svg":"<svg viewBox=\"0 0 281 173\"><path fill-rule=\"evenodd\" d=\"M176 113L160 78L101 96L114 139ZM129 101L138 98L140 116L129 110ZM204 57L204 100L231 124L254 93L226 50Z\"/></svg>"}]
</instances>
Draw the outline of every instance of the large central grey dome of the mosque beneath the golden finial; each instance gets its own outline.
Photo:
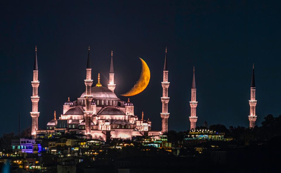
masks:
<instances>
[{"instance_id":1,"label":"large central grey dome of the mosque beneath the golden finial","mask_svg":"<svg viewBox=\"0 0 281 173\"><path fill-rule=\"evenodd\" d=\"M84 98L86 95L86 91L82 93L80 98ZM118 99L118 97L108 88L106 87L92 87L91 95L93 98L113 98Z\"/></svg>"}]
</instances>

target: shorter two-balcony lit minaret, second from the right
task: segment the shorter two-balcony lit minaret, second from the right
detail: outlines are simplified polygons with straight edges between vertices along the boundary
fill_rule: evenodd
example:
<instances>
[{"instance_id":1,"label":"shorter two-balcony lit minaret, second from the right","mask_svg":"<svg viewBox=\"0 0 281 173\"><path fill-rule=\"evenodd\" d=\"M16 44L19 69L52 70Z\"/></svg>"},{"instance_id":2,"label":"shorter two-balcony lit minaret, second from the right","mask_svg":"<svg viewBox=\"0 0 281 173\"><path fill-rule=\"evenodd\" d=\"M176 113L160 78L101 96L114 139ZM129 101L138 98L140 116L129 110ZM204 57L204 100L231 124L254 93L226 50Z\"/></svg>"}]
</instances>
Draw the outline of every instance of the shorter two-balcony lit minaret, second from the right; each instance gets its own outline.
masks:
<instances>
[{"instance_id":1,"label":"shorter two-balcony lit minaret, second from the right","mask_svg":"<svg viewBox=\"0 0 281 173\"><path fill-rule=\"evenodd\" d=\"M192 79L192 86L191 86L191 101L189 102L191 112L189 116L189 121L190 121L190 130L196 128L196 121L197 121L197 116L196 116L196 107L198 102L196 101L196 84L195 84L195 70L193 66L193 79Z\"/></svg>"}]
</instances>

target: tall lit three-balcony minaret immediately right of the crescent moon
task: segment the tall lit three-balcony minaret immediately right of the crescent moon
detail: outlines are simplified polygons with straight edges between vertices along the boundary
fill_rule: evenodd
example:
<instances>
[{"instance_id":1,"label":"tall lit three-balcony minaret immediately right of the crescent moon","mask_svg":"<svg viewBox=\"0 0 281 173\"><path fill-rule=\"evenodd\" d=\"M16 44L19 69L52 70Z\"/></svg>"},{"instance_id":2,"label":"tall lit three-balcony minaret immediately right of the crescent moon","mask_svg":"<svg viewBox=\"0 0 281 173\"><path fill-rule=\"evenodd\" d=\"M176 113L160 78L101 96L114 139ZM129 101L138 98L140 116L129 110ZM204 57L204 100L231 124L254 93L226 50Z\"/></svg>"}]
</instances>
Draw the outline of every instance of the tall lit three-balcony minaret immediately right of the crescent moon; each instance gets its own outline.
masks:
<instances>
[{"instance_id":1,"label":"tall lit three-balcony minaret immediately right of the crescent moon","mask_svg":"<svg viewBox=\"0 0 281 173\"><path fill-rule=\"evenodd\" d=\"M162 101L162 113L160 116L162 118L162 132L165 133L168 131L168 118L170 113L168 113L168 103L170 98L168 97L168 88L170 82L168 82L168 62L167 62L167 47L165 50L165 63L164 63L164 70L163 70L163 82L161 82L163 88L163 96L161 97Z\"/></svg>"}]
</instances>

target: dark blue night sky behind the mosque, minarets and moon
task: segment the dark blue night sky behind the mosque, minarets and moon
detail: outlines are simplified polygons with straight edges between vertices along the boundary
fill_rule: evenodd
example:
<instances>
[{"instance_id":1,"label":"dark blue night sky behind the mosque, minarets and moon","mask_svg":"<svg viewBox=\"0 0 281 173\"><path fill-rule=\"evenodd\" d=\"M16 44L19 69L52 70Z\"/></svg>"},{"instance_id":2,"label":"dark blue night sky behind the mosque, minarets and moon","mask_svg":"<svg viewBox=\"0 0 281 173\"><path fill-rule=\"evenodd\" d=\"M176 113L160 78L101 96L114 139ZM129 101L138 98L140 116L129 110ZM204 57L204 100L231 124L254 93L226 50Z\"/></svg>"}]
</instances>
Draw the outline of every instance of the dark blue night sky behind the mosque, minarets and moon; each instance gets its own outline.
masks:
<instances>
[{"instance_id":1,"label":"dark blue night sky behind the mosque, minarets and moon","mask_svg":"<svg viewBox=\"0 0 281 173\"><path fill-rule=\"evenodd\" d=\"M39 128L69 96L85 91L88 45L93 85L107 87L113 50L115 93L122 100L138 80L143 58L148 87L130 97L135 114L161 129L165 47L169 64L169 130L190 128L192 68L197 87L197 126L249 126L252 66L256 124L280 110L280 4L258 1L1 1L0 134L31 125L35 45L39 69Z\"/></svg>"}]
</instances>

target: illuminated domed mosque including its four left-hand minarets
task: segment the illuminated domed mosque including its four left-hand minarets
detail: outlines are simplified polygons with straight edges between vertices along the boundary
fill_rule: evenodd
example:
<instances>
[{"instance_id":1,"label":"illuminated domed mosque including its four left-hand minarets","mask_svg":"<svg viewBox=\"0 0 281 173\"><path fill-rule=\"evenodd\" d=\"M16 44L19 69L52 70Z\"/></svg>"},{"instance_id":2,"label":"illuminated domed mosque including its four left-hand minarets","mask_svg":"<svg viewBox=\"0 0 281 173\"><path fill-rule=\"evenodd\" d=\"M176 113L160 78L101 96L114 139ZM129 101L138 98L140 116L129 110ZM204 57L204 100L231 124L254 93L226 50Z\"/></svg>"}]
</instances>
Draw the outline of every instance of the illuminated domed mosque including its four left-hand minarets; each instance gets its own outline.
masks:
<instances>
[{"instance_id":1,"label":"illuminated domed mosque including its four left-hand minarets","mask_svg":"<svg viewBox=\"0 0 281 173\"><path fill-rule=\"evenodd\" d=\"M141 119L134 114L134 105L128 99L123 101L116 96L114 89L114 68L113 53L111 52L111 63L109 68L109 84L107 87L100 83L100 74L98 74L97 83L92 86L90 61L90 47L88 48L88 59L86 66L86 79L84 80L86 91L81 93L76 100L68 100L63 104L63 114L47 123L46 129L38 128L38 66L37 66L37 48L35 48L35 61L33 69L32 84L32 118L31 135L36 138L38 134L51 134L57 132L74 133L86 135L89 139L109 140L110 138L132 139L136 136L161 135L168 130L168 64L167 48L165 51L165 63L163 70L163 97L162 100L162 130L153 131L152 122L144 119L142 113ZM82 81L81 81L82 82Z\"/></svg>"}]
</instances>

